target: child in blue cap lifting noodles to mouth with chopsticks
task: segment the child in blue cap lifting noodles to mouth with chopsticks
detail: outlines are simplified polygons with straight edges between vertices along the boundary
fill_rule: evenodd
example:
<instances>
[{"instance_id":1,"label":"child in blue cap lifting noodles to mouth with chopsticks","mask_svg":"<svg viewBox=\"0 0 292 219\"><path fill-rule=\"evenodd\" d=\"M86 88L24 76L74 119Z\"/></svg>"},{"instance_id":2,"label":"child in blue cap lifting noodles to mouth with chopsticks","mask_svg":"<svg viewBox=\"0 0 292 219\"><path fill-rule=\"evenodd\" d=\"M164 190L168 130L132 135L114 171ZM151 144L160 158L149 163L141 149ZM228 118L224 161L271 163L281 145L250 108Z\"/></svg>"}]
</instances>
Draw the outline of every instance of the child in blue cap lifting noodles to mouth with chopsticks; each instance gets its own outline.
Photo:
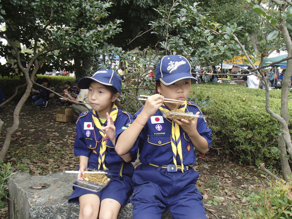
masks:
<instances>
[{"instance_id":1,"label":"child in blue cap lifting noodles to mouth with chopsticks","mask_svg":"<svg viewBox=\"0 0 292 219\"><path fill-rule=\"evenodd\" d=\"M155 71L156 91L134 121L117 135L115 150L122 155L138 146L140 162L133 175L133 219L159 219L167 208L175 219L206 219L202 195L196 187L199 173L193 147L206 153L211 145L211 129L203 118L194 121L167 119L163 111L180 109L202 114L186 101L191 82L191 66L182 55L164 56ZM184 101L166 103L164 98ZM119 131L117 132L117 134Z\"/></svg>"}]
</instances>

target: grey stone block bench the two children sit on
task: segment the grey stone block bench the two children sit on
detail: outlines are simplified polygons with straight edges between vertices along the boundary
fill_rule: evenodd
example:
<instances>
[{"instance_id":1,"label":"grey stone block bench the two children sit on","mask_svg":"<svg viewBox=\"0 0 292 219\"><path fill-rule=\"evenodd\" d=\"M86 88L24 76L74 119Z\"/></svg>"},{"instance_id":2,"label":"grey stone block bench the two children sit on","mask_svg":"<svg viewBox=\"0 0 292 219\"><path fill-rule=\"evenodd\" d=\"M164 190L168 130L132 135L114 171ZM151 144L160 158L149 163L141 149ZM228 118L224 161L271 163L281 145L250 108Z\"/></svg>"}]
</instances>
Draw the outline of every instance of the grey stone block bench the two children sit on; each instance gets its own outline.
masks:
<instances>
[{"instance_id":1,"label":"grey stone block bench the two children sit on","mask_svg":"<svg viewBox=\"0 0 292 219\"><path fill-rule=\"evenodd\" d=\"M79 204L68 203L72 193L69 184L76 174L55 173L46 176L33 176L16 173L9 181L9 218L10 219L78 219ZM46 185L34 189L37 184ZM38 198L35 198L38 197ZM49 197L51 200L49 200ZM124 205L118 219L132 219L131 203ZM172 219L165 210L162 219Z\"/></svg>"}]
</instances>

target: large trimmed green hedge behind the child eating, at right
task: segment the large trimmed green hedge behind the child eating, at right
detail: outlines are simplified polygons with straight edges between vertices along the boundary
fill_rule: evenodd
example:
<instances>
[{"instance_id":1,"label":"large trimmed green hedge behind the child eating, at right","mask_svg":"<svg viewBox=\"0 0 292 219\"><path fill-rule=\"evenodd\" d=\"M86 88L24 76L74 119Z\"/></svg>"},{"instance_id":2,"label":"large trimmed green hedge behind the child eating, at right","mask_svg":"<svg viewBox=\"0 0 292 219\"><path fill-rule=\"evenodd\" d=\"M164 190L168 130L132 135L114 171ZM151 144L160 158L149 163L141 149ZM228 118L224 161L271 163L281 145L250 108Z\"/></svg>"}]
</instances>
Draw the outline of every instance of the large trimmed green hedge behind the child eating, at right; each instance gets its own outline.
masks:
<instances>
[{"instance_id":1,"label":"large trimmed green hedge behind the child eating, at right","mask_svg":"<svg viewBox=\"0 0 292 219\"><path fill-rule=\"evenodd\" d=\"M211 147L239 159L241 163L275 164L279 123L265 110L265 90L240 85L201 83L192 87L191 96L214 103L203 109L212 131ZM280 113L281 91L270 92L270 107ZM289 106L291 116L292 107ZM289 124L291 129L291 123ZM265 162L266 161L266 162ZM268 162L267 162L268 161Z\"/></svg>"}]
</instances>

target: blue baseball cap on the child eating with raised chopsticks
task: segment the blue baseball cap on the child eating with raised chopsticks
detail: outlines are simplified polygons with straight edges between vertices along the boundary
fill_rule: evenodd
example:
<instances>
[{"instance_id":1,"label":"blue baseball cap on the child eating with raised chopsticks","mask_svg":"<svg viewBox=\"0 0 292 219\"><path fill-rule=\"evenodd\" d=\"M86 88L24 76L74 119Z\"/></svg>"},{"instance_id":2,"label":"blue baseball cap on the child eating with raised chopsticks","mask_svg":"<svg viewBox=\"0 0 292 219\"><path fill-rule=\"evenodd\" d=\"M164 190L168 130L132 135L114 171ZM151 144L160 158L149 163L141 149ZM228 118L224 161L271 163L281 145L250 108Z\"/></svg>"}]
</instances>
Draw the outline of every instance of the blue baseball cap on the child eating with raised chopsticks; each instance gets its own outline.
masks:
<instances>
[{"instance_id":1,"label":"blue baseball cap on the child eating with raised chopsticks","mask_svg":"<svg viewBox=\"0 0 292 219\"><path fill-rule=\"evenodd\" d=\"M197 79L191 73L191 65L182 55L167 55L158 62L155 69L155 81L160 80L165 86L183 79Z\"/></svg>"}]
</instances>

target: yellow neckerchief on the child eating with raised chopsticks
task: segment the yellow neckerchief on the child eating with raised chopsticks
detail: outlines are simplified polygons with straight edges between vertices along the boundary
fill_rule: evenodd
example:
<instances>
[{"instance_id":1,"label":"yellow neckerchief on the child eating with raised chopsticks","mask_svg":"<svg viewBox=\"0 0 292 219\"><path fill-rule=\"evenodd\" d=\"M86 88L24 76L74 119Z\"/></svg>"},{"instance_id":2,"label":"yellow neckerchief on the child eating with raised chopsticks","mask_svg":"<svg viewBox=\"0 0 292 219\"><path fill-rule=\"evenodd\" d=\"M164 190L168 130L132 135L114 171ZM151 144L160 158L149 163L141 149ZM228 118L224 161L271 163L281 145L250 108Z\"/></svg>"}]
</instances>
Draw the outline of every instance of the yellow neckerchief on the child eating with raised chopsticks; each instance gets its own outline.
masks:
<instances>
[{"instance_id":1,"label":"yellow neckerchief on the child eating with raised chopsticks","mask_svg":"<svg viewBox=\"0 0 292 219\"><path fill-rule=\"evenodd\" d=\"M179 109L184 111L186 109L186 106L187 106L186 101L184 101ZM170 111L165 105L162 105L159 108L159 110ZM177 162L176 162L176 155L178 153L181 159L182 172L183 172L183 151L182 151L180 126L177 123L174 123L173 121L172 121L172 126L171 126L171 147L172 147L172 153L173 153L173 163L178 169Z\"/></svg>"}]
</instances>

